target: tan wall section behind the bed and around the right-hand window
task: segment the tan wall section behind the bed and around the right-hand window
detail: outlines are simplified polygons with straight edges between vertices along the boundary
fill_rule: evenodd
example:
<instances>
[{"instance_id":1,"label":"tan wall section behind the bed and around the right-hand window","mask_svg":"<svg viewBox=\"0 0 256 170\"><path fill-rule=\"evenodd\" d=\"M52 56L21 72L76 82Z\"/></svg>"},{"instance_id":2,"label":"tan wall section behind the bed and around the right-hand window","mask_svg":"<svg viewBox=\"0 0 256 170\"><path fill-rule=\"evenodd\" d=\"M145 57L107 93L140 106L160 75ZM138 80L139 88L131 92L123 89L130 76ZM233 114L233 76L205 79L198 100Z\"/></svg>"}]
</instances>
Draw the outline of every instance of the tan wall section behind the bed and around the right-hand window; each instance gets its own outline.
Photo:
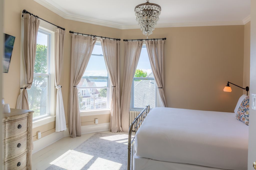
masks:
<instances>
[{"instance_id":1,"label":"tan wall section behind the bed and around the right-hand window","mask_svg":"<svg viewBox=\"0 0 256 170\"><path fill-rule=\"evenodd\" d=\"M133 29L122 37L145 38ZM243 84L244 25L156 28L149 38L162 37L167 107L233 112L243 91L223 88L228 81Z\"/></svg>"}]
</instances>

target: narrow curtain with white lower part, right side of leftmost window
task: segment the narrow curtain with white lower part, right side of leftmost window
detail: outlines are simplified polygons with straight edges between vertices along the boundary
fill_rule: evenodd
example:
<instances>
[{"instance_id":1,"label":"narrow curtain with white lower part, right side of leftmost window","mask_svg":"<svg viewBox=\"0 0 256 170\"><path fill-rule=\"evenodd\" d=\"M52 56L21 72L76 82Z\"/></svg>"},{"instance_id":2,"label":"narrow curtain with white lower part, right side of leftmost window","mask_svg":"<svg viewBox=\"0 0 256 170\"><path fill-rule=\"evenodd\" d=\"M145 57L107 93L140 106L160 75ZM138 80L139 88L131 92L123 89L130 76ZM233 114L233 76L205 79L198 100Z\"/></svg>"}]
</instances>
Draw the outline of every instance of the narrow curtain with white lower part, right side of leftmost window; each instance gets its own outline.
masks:
<instances>
[{"instance_id":1,"label":"narrow curtain with white lower part, right side of leftmost window","mask_svg":"<svg viewBox=\"0 0 256 170\"><path fill-rule=\"evenodd\" d=\"M61 93L60 76L61 67L63 63L64 53L64 37L65 31L56 28L55 29L55 87L56 93L56 121L55 121L55 132L60 132L67 129L64 105Z\"/></svg>"}]
</instances>

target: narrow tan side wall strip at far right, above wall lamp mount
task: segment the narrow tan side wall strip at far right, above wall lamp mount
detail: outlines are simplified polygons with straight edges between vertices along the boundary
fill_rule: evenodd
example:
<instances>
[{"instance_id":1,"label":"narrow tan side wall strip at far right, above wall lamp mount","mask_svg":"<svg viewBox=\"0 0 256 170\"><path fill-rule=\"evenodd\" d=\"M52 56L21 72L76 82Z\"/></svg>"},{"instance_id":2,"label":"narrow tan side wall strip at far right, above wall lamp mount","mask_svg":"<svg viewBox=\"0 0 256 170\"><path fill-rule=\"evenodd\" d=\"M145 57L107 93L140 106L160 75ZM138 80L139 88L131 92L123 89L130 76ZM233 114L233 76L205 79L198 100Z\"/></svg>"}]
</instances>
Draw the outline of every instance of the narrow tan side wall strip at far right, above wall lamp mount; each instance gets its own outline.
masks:
<instances>
[{"instance_id":1,"label":"narrow tan side wall strip at far right, above wall lamp mount","mask_svg":"<svg viewBox=\"0 0 256 170\"><path fill-rule=\"evenodd\" d=\"M250 44L251 44L250 36L251 36L251 22L248 22L247 24L244 25L243 87L250 86ZM248 95L249 95L249 92L248 92ZM246 94L245 90L243 94Z\"/></svg>"}]
</instances>

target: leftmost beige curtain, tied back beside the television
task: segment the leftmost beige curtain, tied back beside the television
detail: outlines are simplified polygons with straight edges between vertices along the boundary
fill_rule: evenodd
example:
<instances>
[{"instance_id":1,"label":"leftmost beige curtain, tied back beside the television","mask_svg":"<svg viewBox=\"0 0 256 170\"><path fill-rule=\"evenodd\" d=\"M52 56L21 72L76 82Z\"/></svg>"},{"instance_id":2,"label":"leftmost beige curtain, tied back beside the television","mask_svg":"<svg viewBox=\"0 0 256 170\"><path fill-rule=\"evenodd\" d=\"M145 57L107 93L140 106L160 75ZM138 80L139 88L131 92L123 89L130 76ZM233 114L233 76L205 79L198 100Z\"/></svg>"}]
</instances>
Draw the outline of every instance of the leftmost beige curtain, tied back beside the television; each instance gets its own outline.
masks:
<instances>
[{"instance_id":1,"label":"leftmost beige curtain, tied back beside the television","mask_svg":"<svg viewBox=\"0 0 256 170\"><path fill-rule=\"evenodd\" d=\"M40 20L29 14L23 14L24 18L24 68L25 68L25 87L20 93L16 108L29 110L27 89L33 83L34 66L36 58L36 41Z\"/></svg>"}]
</instances>

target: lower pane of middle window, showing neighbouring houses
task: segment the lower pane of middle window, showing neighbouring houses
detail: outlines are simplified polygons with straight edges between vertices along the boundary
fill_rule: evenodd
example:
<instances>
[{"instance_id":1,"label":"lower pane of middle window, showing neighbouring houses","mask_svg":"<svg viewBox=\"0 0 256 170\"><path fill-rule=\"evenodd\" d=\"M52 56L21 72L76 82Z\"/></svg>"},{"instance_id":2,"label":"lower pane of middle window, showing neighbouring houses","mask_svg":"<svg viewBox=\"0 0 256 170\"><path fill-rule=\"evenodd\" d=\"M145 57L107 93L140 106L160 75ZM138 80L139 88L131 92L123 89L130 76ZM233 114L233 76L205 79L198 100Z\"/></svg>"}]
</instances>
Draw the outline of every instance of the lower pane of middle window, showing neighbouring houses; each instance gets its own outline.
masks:
<instances>
[{"instance_id":1,"label":"lower pane of middle window, showing neighbouring houses","mask_svg":"<svg viewBox=\"0 0 256 170\"><path fill-rule=\"evenodd\" d=\"M79 88L79 109L91 110L108 108L107 94L107 88Z\"/></svg>"}]
</instances>

